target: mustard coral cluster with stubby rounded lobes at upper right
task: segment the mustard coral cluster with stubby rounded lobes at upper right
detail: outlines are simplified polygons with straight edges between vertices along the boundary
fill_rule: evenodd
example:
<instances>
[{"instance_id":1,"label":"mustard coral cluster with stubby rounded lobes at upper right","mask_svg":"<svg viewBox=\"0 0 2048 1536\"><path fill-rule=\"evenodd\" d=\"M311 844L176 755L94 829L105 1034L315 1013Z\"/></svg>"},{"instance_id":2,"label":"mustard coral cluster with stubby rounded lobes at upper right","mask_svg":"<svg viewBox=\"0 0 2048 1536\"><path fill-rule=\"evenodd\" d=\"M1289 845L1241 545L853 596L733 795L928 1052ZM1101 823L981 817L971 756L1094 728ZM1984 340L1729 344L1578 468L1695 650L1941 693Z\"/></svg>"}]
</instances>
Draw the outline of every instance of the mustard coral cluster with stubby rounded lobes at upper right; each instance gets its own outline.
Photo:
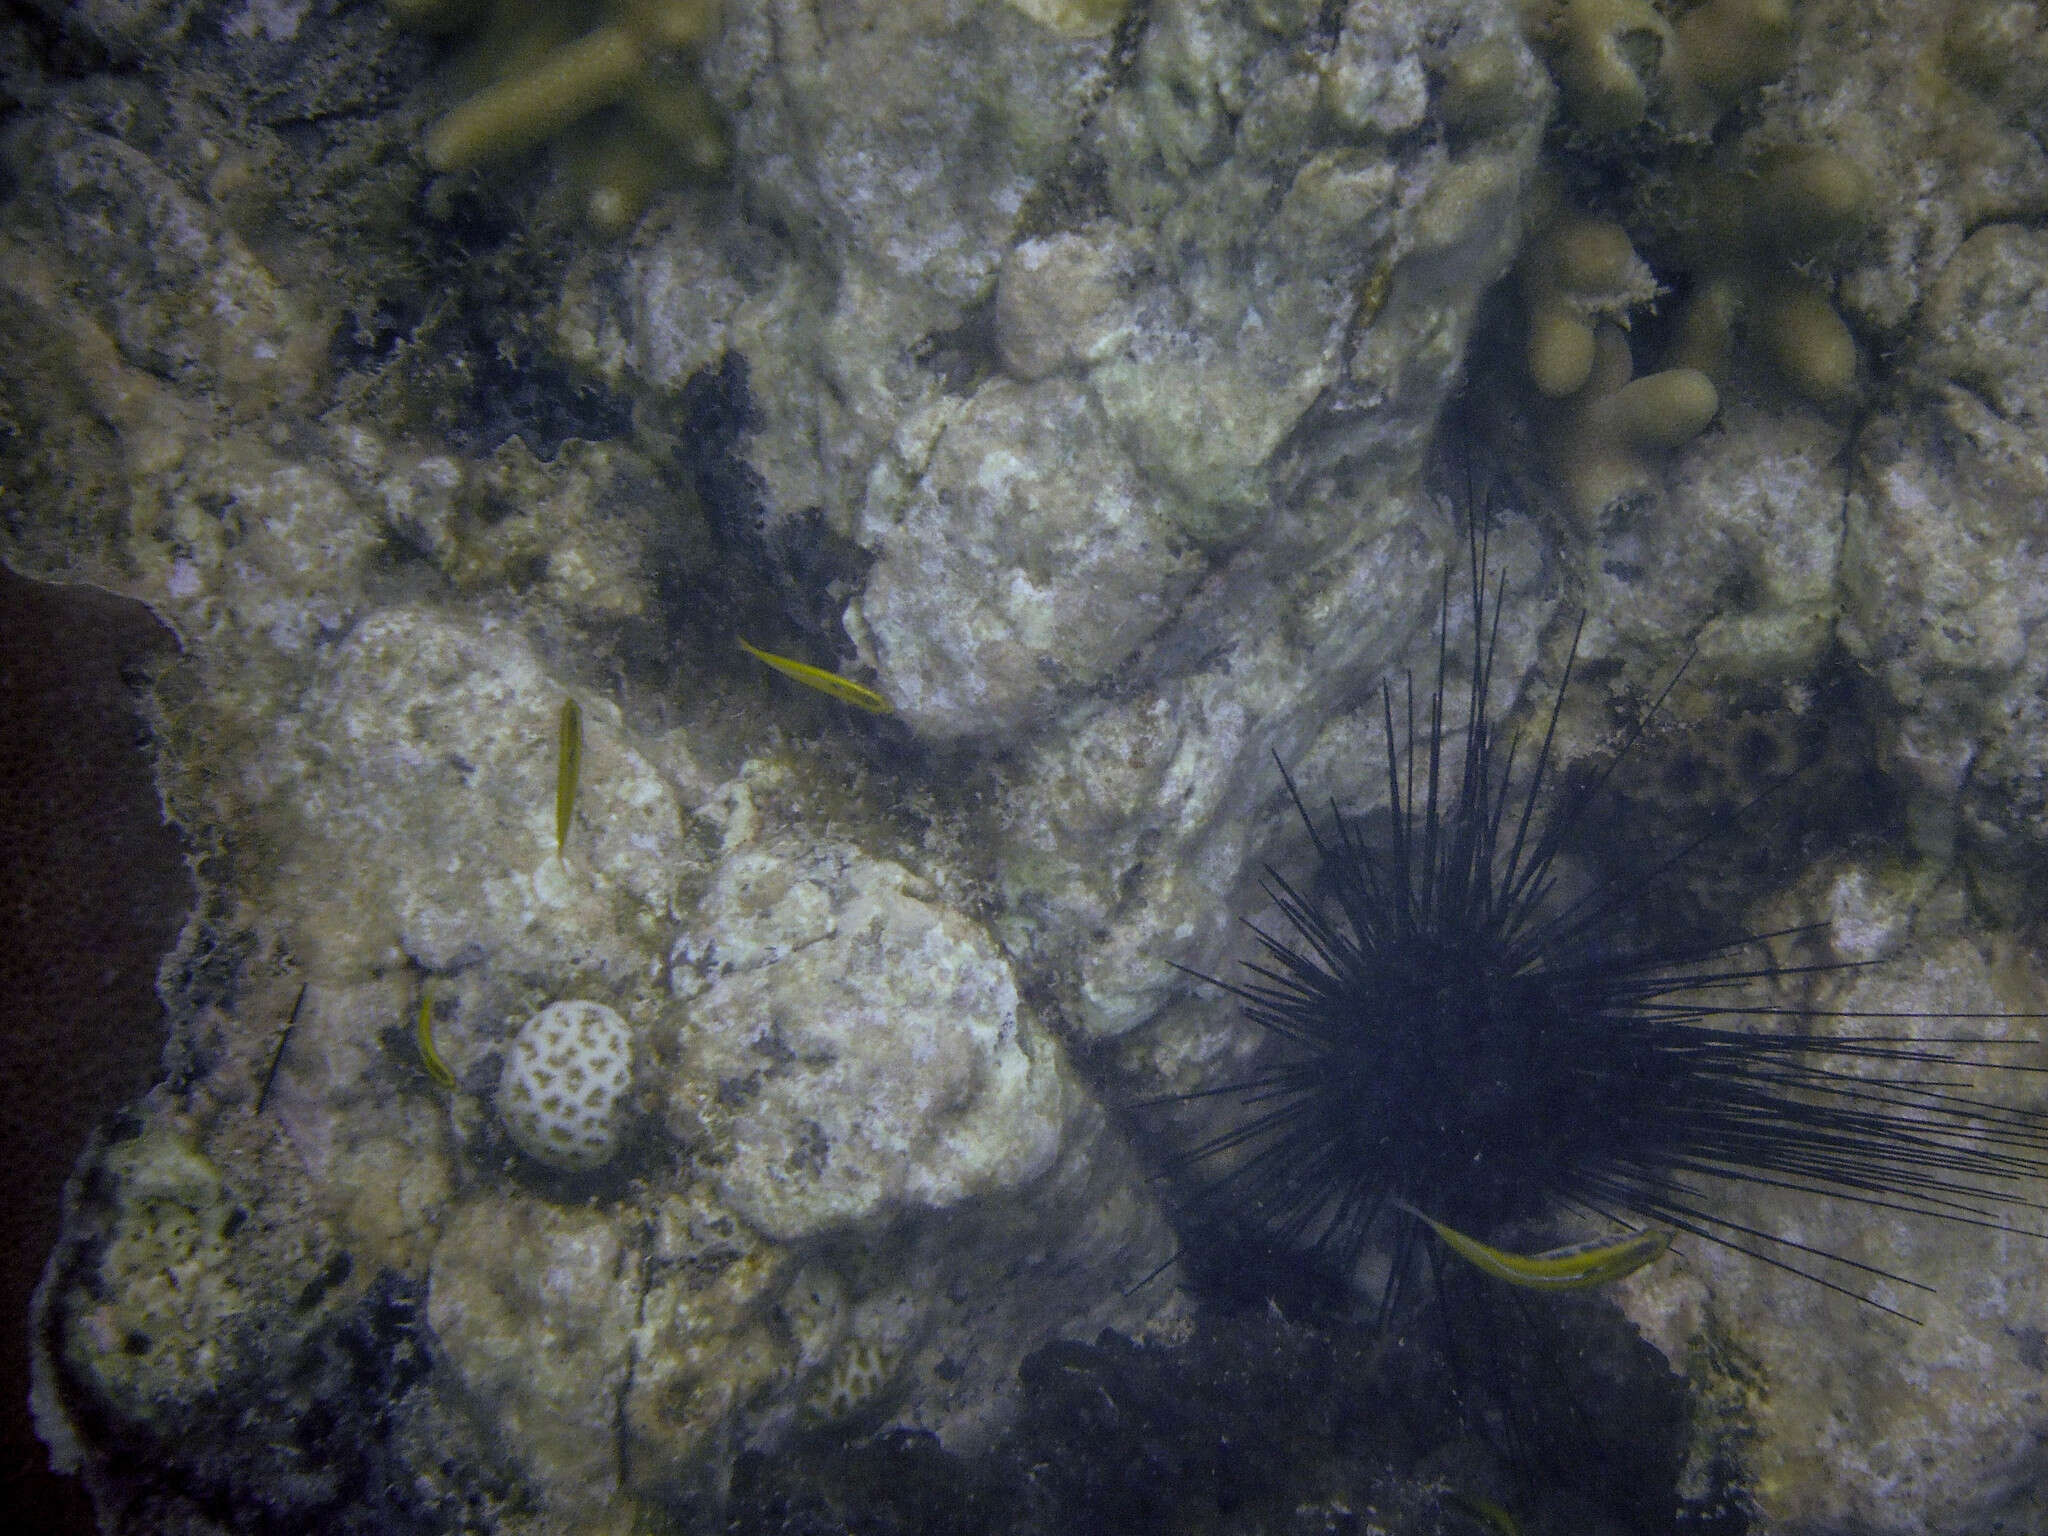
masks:
<instances>
[{"instance_id":1,"label":"mustard coral cluster with stubby rounded lobes at upper right","mask_svg":"<svg viewBox=\"0 0 2048 1536\"><path fill-rule=\"evenodd\" d=\"M1581 129L1651 123L1673 143L1702 141L1743 96L1784 74L1798 41L1792 0L1520 0L1520 8ZM1950 27L1952 66L1985 74L2015 29L2023 31L2005 8L1966 2ZM1561 211L1552 193L1518 268L1524 369L1542 399L1569 406L1563 457L1581 510L1599 502L1602 487L1640 477L1642 451L1659 446L1651 438L1706 424L1743 334L1804 399L1839 406L1858 387L1855 338L1825 281L1827 260L1868 219L1870 176L1853 160L1810 145L1724 150L1696 168L1663 170L1663 180L1638 168L1634 180L1632 207L1657 231L1659 260L1686 279L1657 373L1634 379L1624 367L1630 311L1657 297L1657 283L1620 223ZM1618 330L1606 336L1608 326ZM1618 399L1593 410L1602 373ZM1663 383L1651 387L1653 379ZM1632 440L1651 422L1663 426Z\"/></svg>"}]
</instances>

